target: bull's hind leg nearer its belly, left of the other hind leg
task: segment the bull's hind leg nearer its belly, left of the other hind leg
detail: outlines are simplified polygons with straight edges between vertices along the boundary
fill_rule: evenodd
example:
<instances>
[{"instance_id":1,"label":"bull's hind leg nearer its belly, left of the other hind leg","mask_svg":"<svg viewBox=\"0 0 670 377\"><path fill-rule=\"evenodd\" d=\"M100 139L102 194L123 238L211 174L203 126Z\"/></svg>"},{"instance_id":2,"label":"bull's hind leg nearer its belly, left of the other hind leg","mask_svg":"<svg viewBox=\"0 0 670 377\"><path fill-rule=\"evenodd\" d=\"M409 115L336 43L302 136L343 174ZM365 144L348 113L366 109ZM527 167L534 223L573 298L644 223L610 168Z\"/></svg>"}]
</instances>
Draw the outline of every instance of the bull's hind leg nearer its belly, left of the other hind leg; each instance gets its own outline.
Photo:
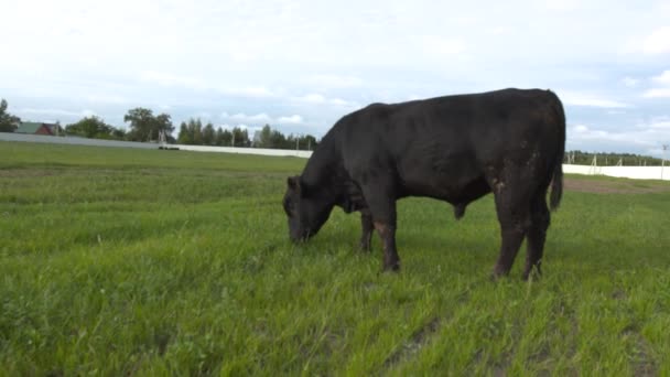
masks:
<instances>
[{"instance_id":1,"label":"bull's hind leg nearer its belly, left of the other hind leg","mask_svg":"<svg viewBox=\"0 0 670 377\"><path fill-rule=\"evenodd\" d=\"M519 252L530 225L530 200L522 180L495 180L493 190L502 238L500 255L493 271L494 278L498 278L509 273Z\"/></svg>"}]
</instances>

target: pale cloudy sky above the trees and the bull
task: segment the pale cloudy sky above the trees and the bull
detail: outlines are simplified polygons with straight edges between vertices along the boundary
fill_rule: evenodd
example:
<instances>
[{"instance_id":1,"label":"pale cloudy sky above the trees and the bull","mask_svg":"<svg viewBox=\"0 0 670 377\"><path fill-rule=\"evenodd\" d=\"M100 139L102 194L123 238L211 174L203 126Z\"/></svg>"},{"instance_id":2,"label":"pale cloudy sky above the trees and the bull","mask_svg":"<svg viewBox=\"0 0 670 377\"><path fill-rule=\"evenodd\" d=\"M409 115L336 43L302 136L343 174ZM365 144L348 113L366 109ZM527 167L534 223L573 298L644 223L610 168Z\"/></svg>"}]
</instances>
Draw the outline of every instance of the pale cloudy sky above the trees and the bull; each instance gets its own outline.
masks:
<instances>
[{"instance_id":1,"label":"pale cloudy sky above the trees and the bull","mask_svg":"<svg viewBox=\"0 0 670 377\"><path fill-rule=\"evenodd\" d=\"M370 103L506 87L562 99L569 150L670 144L670 0L0 0L24 120L134 107L322 137ZM668 153L670 154L670 152Z\"/></svg>"}]
</instances>

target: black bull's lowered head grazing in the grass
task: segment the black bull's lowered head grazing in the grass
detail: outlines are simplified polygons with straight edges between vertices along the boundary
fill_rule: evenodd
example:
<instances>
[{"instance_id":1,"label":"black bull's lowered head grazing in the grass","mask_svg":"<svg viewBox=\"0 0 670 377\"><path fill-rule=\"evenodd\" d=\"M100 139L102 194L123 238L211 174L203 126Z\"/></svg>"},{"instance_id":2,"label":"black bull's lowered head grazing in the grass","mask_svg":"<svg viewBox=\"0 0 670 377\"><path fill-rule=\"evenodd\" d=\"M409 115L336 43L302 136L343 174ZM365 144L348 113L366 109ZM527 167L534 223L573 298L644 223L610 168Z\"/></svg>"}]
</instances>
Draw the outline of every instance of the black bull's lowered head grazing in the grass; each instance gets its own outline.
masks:
<instances>
[{"instance_id":1,"label":"black bull's lowered head grazing in the grass","mask_svg":"<svg viewBox=\"0 0 670 377\"><path fill-rule=\"evenodd\" d=\"M318 190L306 187L300 176L287 180L283 206L289 216L289 237L298 243L314 236L331 216L333 203Z\"/></svg>"}]
</instances>

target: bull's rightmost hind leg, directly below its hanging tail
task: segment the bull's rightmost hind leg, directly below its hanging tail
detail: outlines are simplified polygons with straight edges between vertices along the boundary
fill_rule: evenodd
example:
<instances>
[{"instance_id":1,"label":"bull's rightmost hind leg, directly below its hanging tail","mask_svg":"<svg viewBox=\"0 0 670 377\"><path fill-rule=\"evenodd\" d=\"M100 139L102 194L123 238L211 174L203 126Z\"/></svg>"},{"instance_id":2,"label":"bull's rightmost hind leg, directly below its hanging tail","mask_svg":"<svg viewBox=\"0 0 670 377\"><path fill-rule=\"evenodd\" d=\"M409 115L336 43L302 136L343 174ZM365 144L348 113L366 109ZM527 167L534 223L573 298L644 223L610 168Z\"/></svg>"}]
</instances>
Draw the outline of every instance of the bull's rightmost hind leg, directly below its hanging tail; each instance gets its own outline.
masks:
<instances>
[{"instance_id":1,"label":"bull's rightmost hind leg, directly below its hanging tail","mask_svg":"<svg viewBox=\"0 0 670 377\"><path fill-rule=\"evenodd\" d=\"M531 224L527 234L527 251L526 251L526 269L523 270L523 279L528 279L533 269L538 274L542 273L540 269L542 265L542 255L544 252L544 240L547 238L547 229L549 228L550 214L547 207L547 193L542 191L536 195L530 206Z\"/></svg>"}]
</instances>

